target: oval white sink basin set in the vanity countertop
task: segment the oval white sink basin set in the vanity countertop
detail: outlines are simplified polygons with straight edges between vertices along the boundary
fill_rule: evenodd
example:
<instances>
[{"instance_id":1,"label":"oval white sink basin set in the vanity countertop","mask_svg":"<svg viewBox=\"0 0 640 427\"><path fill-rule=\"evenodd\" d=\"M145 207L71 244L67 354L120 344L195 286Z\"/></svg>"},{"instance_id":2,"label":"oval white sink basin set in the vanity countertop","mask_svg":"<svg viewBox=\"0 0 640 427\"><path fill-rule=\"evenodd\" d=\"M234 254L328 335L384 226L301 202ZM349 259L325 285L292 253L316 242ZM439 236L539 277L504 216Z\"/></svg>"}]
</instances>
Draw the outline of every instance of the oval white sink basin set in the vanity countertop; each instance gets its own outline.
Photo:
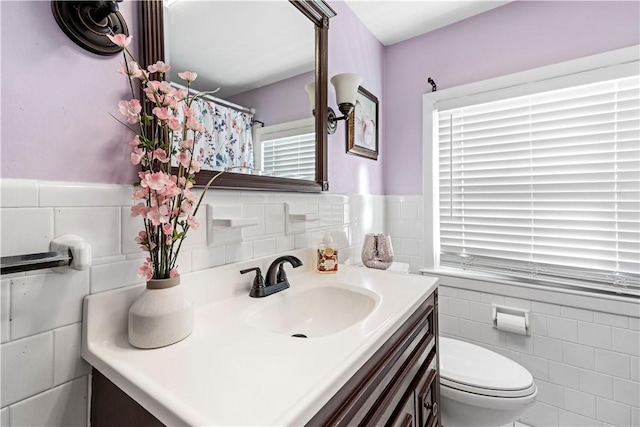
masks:
<instances>
[{"instance_id":1,"label":"oval white sink basin set in the vanity countertop","mask_svg":"<svg viewBox=\"0 0 640 427\"><path fill-rule=\"evenodd\" d=\"M266 298L274 299L251 314L247 323L257 329L301 338L340 332L367 317L380 299L373 292L352 290L346 285L298 292L286 290Z\"/></svg>"}]
</instances>

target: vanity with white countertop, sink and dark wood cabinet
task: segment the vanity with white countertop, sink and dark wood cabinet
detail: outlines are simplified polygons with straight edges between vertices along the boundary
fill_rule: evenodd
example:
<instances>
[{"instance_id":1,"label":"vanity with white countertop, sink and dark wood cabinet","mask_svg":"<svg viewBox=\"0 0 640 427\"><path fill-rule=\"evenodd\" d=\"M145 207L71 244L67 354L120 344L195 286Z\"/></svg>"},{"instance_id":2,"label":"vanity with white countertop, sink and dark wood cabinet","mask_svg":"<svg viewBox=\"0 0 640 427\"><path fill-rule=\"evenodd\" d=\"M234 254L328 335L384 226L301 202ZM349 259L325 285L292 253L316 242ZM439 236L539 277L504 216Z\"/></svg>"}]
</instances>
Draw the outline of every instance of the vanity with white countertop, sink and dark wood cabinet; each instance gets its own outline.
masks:
<instances>
[{"instance_id":1,"label":"vanity with white countertop, sink and dark wood cabinet","mask_svg":"<svg viewBox=\"0 0 640 427\"><path fill-rule=\"evenodd\" d=\"M185 274L194 332L140 350L127 340L143 287L88 296L82 356L93 366L91 424L394 425L439 422L437 279L341 265L250 298L275 257Z\"/></svg>"}]
</instances>

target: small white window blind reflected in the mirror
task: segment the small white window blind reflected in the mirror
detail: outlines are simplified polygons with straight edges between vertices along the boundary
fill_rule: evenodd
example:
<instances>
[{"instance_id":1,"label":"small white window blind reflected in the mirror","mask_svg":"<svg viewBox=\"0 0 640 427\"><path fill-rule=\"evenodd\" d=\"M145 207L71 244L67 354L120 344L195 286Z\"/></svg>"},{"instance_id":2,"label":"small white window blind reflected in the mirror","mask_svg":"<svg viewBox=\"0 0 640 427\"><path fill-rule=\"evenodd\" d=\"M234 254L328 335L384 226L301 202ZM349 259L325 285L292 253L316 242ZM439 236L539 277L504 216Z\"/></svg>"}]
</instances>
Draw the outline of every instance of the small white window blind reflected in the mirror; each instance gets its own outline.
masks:
<instances>
[{"instance_id":1,"label":"small white window blind reflected in the mirror","mask_svg":"<svg viewBox=\"0 0 640 427\"><path fill-rule=\"evenodd\" d=\"M315 133L262 142L263 169L279 177L310 179L316 176Z\"/></svg>"}]
</instances>

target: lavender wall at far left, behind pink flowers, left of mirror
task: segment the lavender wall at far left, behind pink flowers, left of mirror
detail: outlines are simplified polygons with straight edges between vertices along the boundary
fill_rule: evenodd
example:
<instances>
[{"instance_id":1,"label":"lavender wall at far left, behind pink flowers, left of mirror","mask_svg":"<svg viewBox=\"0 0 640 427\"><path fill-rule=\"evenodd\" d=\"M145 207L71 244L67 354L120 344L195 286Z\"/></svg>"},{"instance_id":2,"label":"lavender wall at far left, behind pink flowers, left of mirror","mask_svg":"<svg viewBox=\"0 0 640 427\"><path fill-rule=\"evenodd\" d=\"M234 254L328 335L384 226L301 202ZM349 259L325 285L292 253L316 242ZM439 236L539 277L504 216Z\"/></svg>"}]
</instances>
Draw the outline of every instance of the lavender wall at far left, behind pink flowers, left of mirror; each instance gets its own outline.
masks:
<instances>
[{"instance_id":1,"label":"lavender wall at far left, behind pink flowers, left of mirror","mask_svg":"<svg viewBox=\"0 0 640 427\"><path fill-rule=\"evenodd\" d=\"M76 46L49 1L2 1L2 177L130 183L132 134L109 116L128 96L120 55ZM137 34L134 1L120 3Z\"/></svg>"}]
</instances>

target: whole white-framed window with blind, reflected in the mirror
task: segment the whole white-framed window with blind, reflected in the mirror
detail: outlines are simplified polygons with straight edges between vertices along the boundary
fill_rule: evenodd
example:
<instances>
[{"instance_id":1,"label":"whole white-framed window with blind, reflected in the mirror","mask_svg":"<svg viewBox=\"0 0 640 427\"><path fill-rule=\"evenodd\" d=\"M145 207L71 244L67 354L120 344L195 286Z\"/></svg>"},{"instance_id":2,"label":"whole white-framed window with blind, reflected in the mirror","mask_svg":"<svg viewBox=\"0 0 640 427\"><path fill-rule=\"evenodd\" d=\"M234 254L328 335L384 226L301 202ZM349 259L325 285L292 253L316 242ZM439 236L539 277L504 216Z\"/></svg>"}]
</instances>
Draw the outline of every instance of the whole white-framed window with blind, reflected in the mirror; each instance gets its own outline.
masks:
<instances>
[{"instance_id":1,"label":"whole white-framed window with blind, reflected in the mirror","mask_svg":"<svg viewBox=\"0 0 640 427\"><path fill-rule=\"evenodd\" d=\"M258 129L260 168L268 175L315 180L314 129L313 118Z\"/></svg>"}]
</instances>

